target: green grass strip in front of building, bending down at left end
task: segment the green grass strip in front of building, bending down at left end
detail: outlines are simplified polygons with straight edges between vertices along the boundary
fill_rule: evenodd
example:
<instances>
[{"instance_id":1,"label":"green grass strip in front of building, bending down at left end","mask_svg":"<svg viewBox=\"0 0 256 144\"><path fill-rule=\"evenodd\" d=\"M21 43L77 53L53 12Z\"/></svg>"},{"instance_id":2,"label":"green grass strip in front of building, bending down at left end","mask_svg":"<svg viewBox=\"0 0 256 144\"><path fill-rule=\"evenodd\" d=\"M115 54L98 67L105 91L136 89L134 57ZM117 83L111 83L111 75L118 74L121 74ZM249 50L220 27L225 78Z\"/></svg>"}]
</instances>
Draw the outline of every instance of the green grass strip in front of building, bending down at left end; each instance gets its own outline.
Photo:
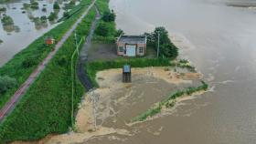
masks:
<instances>
[{"instance_id":1,"label":"green grass strip in front of building, bending down at left end","mask_svg":"<svg viewBox=\"0 0 256 144\"><path fill-rule=\"evenodd\" d=\"M128 64L131 67L165 67L173 66L169 59L149 59L149 58L131 58L131 59L116 59L113 61L94 61L85 65L85 71L91 79L94 87L98 87L95 80L96 73L104 69L122 68L123 65Z\"/></svg>"}]
</instances>

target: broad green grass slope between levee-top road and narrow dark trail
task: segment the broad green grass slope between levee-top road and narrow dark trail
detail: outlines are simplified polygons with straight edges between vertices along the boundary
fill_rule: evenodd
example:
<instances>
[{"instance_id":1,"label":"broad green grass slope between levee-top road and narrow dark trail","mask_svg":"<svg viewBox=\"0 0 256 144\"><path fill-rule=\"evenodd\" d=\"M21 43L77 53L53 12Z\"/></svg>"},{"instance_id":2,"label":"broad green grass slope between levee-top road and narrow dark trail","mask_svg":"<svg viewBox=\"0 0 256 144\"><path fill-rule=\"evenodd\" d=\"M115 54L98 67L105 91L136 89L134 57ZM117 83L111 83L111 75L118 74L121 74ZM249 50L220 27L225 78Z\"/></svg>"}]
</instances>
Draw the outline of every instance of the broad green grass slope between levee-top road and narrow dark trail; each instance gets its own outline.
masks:
<instances>
[{"instance_id":1,"label":"broad green grass slope between levee-top road and narrow dark trail","mask_svg":"<svg viewBox=\"0 0 256 144\"><path fill-rule=\"evenodd\" d=\"M91 9L83 18L76 29L78 39L88 36L95 15L95 9ZM72 34L0 126L1 142L41 139L49 133L69 130L72 109L70 61L75 49ZM77 109L84 92L77 77L74 90L73 105Z\"/></svg>"}]
</instances>

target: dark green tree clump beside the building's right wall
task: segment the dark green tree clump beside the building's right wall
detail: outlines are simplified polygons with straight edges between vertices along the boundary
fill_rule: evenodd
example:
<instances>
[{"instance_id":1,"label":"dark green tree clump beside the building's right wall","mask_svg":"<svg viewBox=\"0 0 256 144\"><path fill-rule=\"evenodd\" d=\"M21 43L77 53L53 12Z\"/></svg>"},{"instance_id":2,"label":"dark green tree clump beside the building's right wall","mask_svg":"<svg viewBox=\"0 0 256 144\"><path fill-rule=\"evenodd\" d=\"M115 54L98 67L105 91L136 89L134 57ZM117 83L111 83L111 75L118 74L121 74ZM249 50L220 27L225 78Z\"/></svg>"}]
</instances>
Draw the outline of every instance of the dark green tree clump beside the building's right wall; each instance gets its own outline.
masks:
<instances>
[{"instance_id":1,"label":"dark green tree clump beside the building's right wall","mask_svg":"<svg viewBox=\"0 0 256 144\"><path fill-rule=\"evenodd\" d=\"M147 45L155 47L157 51L158 47L158 35L159 35L159 56L176 58L178 56L178 48L171 42L168 31L165 27L156 27L152 33L145 33L147 36Z\"/></svg>"}]
</instances>

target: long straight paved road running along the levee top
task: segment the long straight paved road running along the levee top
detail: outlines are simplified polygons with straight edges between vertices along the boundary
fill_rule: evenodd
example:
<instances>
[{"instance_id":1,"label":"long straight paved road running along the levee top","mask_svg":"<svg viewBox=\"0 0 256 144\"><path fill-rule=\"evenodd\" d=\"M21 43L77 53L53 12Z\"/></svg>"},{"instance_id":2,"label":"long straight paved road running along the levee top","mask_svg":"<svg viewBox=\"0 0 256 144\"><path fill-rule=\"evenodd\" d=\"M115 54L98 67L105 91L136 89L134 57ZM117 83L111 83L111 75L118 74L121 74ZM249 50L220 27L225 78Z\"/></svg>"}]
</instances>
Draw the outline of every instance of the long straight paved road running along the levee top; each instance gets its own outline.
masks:
<instances>
[{"instance_id":1,"label":"long straight paved road running along the levee top","mask_svg":"<svg viewBox=\"0 0 256 144\"><path fill-rule=\"evenodd\" d=\"M15 108L16 103L18 100L26 93L28 87L36 80L36 78L40 75L40 73L45 69L45 67L48 65L48 62L54 55L57 53L59 48L64 44L64 42L68 39L68 37L72 34L72 32L76 29L76 27L80 24L82 18L89 13L92 6L95 4L96 0L94 0L91 5L87 8L87 10L80 16L80 18L77 20L77 22L71 26L69 31L61 38L61 40L58 42L58 44L55 46L54 50L48 54L48 57L46 57L38 66L37 68L32 72L32 74L27 78L25 83L21 85L21 87L18 88L16 93L8 102L5 103L5 106L0 110L0 121L2 121L13 108Z\"/></svg>"}]
</instances>

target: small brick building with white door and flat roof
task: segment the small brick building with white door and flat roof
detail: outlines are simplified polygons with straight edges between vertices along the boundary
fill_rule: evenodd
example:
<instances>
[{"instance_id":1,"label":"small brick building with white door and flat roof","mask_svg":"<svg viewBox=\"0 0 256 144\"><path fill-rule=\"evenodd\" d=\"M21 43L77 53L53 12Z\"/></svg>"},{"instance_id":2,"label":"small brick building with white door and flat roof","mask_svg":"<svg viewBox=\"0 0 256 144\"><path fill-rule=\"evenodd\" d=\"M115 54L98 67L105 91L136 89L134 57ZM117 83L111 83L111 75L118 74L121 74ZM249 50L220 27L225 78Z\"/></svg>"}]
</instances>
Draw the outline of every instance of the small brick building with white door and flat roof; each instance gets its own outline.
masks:
<instances>
[{"instance_id":1,"label":"small brick building with white door and flat roof","mask_svg":"<svg viewBox=\"0 0 256 144\"><path fill-rule=\"evenodd\" d=\"M117 55L142 57L146 54L146 36L120 36L117 40Z\"/></svg>"}]
</instances>

